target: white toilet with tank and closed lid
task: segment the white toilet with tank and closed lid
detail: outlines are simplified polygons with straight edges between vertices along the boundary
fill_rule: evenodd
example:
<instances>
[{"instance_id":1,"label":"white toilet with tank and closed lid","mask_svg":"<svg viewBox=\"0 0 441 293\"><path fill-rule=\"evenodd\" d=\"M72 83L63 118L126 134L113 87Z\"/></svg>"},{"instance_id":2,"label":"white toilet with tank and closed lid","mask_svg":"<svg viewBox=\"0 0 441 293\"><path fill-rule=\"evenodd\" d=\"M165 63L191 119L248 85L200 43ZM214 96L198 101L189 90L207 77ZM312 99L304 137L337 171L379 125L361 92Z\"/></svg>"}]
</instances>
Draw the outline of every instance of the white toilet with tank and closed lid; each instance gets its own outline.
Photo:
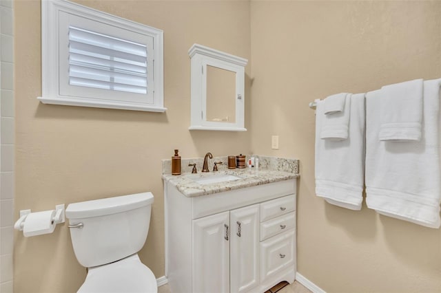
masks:
<instances>
[{"instance_id":1,"label":"white toilet with tank and closed lid","mask_svg":"<svg viewBox=\"0 0 441 293\"><path fill-rule=\"evenodd\" d=\"M69 204L76 259L88 268L78 292L156 293L153 272L138 257L149 232L152 193Z\"/></svg>"}]
</instances>

